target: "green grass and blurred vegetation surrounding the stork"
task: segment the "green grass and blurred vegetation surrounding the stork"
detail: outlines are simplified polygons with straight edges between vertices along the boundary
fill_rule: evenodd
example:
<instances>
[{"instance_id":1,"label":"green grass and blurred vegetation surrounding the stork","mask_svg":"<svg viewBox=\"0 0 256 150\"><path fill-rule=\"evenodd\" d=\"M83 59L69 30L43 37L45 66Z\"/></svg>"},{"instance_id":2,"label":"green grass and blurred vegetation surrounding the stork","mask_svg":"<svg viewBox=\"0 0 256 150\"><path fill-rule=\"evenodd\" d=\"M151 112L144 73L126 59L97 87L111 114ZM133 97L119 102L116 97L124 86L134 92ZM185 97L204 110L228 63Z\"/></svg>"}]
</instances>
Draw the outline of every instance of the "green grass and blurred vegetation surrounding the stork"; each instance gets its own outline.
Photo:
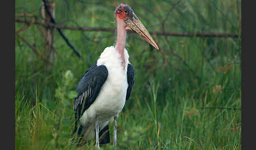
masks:
<instances>
[{"instance_id":1,"label":"green grass and blurred vegetation surrounding the stork","mask_svg":"<svg viewBox=\"0 0 256 150\"><path fill-rule=\"evenodd\" d=\"M237 34L238 38L152 35L161 49L157 51L129 33L126 49L135 83L117 119L117 147L241 149L240 0L54 2L55 19L61 25L114 28L114 9L126 3L149 31ZM15 1L15 6L16 14L42 19L42 1ZM16 23L16 31L23 26ZM116 38L104 31L63 30L81 53L78 59L54 32L57 55L52 65L15 38L16 149L77 149L70 143L76 85ZM36 25L19 35L43 51ZM113 123L110 127L112 137ZM112 143L101 147L113 149ZM86 148L95 147L80 147Z\"/></svg>"}]
</instances>

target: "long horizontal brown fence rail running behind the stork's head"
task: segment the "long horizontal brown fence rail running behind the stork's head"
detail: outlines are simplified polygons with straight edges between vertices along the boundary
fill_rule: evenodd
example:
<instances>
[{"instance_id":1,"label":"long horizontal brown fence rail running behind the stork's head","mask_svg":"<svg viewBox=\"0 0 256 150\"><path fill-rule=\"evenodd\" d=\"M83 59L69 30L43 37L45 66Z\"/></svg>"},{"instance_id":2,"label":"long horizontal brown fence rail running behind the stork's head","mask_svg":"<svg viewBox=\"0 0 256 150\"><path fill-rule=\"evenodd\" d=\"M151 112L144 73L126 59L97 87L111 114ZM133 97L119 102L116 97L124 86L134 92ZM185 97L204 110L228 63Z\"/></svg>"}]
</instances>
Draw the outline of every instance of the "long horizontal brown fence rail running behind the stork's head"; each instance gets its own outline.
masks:
<instances>
[{"instance_id":1,"label":"long horizontal brown fence rail running behind the stork's head","mask_svg":"<svg viewBox=\"0 0 256 150\"><path fill-rule=\"evenodd\" d=\"M32 20L24 20L24 19L15 19L17 23L26 23L29 24ZM34 24L42 25L42 26L50 26L56 29L69 29L69 30L80 30L80 31L109 31L115 32L115 28L102 28L102 27L75 27L75 26L63 26L56 25L52 23L43 23L36 21ZM223 34L223 33L177 33L177 32L163 32L163 31L151 31L150 34L155 34L158 36L178 36L178 37L231 37L238 38L237 34Z\"/></svg>"}]
</instances>

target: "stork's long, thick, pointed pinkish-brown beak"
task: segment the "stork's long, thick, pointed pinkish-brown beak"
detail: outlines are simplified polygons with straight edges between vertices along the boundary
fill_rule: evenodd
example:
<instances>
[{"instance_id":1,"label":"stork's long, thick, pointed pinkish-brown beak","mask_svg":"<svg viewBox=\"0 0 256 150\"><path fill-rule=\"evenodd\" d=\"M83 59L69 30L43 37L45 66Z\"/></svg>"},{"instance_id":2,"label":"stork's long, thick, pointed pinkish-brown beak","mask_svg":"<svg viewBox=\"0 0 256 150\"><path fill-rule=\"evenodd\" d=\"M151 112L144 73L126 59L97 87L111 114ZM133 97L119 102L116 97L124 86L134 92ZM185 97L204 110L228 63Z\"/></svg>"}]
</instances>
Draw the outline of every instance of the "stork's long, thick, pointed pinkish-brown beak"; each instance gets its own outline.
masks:
<instances>
[{"instance_id":1,"label":"stork's long, thick, pointed pinkish-brown beak","mask_svg":"<svg viewBox=\"0 0 256 150\"><path fill-rule=\"evenodd\" d=\"M144 25L141 23L140 19L136 16L132 19L127 18L126 25L129 26L132 30L134 30L137 34L141 35L149 44L151 44L154 48L159 50L159 47L149 34L149 31L146 30Z\"/></svg>"}]
</instances>

